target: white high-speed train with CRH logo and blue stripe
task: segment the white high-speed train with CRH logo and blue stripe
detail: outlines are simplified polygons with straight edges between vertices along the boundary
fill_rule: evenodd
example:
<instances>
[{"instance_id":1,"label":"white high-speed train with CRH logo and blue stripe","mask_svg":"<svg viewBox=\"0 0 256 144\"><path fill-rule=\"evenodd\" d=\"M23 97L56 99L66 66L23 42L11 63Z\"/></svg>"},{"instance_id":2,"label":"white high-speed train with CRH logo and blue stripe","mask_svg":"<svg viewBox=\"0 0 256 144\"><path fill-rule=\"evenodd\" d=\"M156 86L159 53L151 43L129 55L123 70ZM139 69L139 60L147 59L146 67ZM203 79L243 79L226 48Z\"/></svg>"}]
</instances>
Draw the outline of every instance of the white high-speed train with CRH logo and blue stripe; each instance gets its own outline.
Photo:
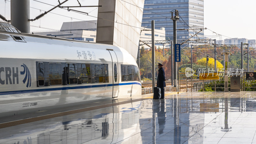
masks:
<instances>
[{"instance_id":1,"label":"white high-speed train with CRH logo and blue stripe","mask_svg":"<svg viewBox=\"0 0 256 144\"><path fill-rule=\"evenodd\" d=\"M20 33L0 22L0 116L141 94L126 50Z\"/></svg>"}]
</instances>

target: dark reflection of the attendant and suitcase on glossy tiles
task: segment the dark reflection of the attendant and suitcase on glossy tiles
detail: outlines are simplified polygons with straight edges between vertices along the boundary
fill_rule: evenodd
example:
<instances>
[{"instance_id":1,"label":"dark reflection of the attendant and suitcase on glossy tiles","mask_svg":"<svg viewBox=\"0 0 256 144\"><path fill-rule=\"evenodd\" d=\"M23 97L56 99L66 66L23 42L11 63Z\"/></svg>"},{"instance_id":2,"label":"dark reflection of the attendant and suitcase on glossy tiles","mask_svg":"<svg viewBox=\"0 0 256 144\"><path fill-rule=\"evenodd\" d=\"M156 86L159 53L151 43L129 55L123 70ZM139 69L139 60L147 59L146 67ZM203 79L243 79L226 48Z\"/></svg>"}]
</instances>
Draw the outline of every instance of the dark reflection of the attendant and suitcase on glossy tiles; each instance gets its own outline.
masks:
<instances>
[{"instance_id":1,"label":"dark reflection of the attendant and suitcase on glossy tiles","mask_svg":"<svg viewBox=\"0 0 256 144\"><path fill-rule=\"evenodd\" d=\"M157 113L157 120L159 125L159 134L164 133L164 126L165 126L165 114L164 111L164 99L160 100L153 100L153 112Z\"/></svg>"}]
</instances>

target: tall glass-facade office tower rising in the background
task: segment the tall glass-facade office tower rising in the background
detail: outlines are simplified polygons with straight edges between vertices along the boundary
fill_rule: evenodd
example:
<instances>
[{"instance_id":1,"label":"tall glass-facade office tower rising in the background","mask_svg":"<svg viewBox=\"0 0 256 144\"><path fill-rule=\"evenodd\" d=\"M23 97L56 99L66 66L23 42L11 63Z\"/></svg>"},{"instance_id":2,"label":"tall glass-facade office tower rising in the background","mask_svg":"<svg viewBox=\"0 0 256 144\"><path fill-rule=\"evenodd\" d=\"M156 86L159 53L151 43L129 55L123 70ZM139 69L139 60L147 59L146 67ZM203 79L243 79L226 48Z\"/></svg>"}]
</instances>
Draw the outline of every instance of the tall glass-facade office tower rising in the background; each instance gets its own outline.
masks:
<instances>
[{"instance_id":1,"label":"tall glass-facade office tower rising in the background","mask_svg":"<svg viewBox=\"0 0 256 144\"><path fill-rule=\"evenodd\" d=\"M166 40L173 40L171 11L174 10L178 10L180 15L177 29L204 28L204 0L145 0L141 26L151 28L151 21L155 20L155 29L164 27ZM188 39L196 31L199 30L177 30L177 40ZM204 30L197 36L204 39ZM192 39L198 38L195 36Z\"/></svg>"}]
</instances>

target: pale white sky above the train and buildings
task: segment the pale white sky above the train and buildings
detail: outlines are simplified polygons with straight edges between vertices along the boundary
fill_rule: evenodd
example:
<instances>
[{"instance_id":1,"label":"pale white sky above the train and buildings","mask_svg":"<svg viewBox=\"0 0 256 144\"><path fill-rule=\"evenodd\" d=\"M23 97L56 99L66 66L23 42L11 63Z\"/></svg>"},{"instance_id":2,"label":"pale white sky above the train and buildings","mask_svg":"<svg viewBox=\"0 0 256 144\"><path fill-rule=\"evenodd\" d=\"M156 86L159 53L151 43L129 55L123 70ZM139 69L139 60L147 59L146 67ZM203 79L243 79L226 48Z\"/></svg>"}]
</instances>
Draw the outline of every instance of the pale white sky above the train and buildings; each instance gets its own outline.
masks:
<instances>
[{"instance_id":1,"label":"pale white sky above the train and buildings","mask_svg":"<svg viewBox=\"0 0 256 144\"><path fill-rule=\"evenodd\" d=\"M52 5L59 4L57 0L38 1ZM60 1L62 2L63 0ZM79 2L81 5L98 5L98 0L79 0ZM40 13L48 11L53 7L47 4L30 0L30 18L34 19ZM69 0L68 2L62 4L62 6L76 5L79 5L77 0ZM229 37L256 39L255 6L255 0L204 0L204 27L208 28L207 30L204 30L204 34L207 36L215 36L216 33L223 35L221 37L217 37L217 40L219 38L224 40ZM30 22L30 31L60 30L63 22L97 20L97 7L72 9L87 13L89 12L90 16L56 8L51 11L52 13L46 14L40 20ZM10 13L10 0L0 0L0 14L5 16L7 20L10 20ZM61 14L63 16L57 14Z\"/></svg>"}]
</instances>

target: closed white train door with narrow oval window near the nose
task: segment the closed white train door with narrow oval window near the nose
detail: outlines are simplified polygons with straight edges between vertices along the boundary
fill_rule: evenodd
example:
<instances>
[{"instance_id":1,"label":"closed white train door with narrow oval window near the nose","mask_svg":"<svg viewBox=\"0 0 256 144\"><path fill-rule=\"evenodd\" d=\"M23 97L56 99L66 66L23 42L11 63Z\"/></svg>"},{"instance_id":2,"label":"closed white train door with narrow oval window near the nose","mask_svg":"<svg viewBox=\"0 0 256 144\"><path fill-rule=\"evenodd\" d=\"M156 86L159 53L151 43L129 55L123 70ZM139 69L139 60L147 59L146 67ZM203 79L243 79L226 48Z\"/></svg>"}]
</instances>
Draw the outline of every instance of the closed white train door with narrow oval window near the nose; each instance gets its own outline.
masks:
<instances>
[{"instance_id":1,"label":"closed white train door with narrow oval window near the nose","mask_svg":"<svg viewBox=\"0 0 256 144\"><path fill-rule=\"evenodd\" d=\"M119 84L118 84L118 60L116 53L113 50L107 49L112 58L112 71L113 71L113 93L112 97L118 96Z\"/></svg>"}]
</instances>

